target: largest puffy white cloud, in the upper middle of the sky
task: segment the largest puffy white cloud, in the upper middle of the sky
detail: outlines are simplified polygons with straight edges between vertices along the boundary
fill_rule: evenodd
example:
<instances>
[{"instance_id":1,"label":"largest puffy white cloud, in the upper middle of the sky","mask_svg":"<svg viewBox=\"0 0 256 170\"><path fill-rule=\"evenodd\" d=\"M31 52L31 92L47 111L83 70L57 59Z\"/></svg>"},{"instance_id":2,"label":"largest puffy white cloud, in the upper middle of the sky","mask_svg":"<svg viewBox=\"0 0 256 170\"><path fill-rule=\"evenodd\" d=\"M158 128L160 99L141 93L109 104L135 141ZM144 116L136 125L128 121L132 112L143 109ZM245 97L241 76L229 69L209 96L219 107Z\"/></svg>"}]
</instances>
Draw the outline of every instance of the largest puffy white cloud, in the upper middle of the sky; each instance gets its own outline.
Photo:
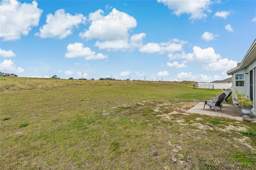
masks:
<instances>
[{"instance_id":1,"label":"largest puffy white cloud, in the upper middle of the sky","mask_svg":"<svg viewBox=\"0 0 256 170\"><path fill-rule=\"evenodd\" d=\"M99 38L95 43L99 49L128 49L129 31L137 26L136 20L115 8L107 16L101 14L102 11L99 10L90 14L92 23L89 29L79 35L87 40Z\"/></svg>"}]
</instances>

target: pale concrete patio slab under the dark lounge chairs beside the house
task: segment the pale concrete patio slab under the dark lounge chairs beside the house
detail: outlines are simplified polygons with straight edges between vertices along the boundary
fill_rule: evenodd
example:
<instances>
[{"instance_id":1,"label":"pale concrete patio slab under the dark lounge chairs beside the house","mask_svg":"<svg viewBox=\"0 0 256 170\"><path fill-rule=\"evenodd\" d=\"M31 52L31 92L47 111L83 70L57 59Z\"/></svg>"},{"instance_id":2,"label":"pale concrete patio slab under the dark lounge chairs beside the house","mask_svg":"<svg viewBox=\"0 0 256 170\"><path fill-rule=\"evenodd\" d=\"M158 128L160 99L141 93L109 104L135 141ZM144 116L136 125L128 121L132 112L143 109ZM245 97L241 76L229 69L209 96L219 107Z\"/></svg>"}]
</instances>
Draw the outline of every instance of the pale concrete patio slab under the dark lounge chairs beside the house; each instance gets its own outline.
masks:
<instances>
[{"instance_id":1,"label":"pale concrete patio slab under the dark lounge chairs beside the house","mask_svg":"<svg viewBox=\"0 0 256 170\"><path fill-rule=\"evenodd\" d=\"M237 121L246 121L246 122L254 122L256 123L256 115L251 113L249 116L252 118L243 118L244 115L241 111L240 107L235 107L234 105L228 105L228 104L222 104L223 108L222 111L219 107L217 107L217 112L214 111L213 108L210 109L208 105L205 105L204 103L200 102L185 113L189 114L199 114L199 115L208 115L212 117L223 117L226 119L234 119Z\"/></svg>"}]
</instances>

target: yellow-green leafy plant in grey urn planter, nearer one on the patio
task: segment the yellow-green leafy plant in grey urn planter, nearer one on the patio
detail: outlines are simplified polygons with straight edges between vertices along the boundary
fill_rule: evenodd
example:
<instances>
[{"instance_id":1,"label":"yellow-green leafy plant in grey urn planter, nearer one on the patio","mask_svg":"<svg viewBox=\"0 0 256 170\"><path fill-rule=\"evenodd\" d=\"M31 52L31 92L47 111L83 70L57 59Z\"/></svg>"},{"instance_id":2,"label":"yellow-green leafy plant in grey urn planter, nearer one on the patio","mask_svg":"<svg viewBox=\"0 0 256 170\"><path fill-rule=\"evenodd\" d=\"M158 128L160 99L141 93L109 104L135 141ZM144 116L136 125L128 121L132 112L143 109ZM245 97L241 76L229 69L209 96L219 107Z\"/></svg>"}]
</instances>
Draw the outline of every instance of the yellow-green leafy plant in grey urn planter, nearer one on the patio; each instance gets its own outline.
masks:
<instances>
[{"instance_id":1,"label":"yellow-green leafy plant in grey urn planter, nearer one on the patio","mask_svg":"<svg viewBox=\"0 0 256 170\"><path fill-rule=\"evenodd\" d=\"M253 107L253 103L254 101L252 101L251 99L242 96L238 99L238 103L242 109L242 113L244 113L244 118L252 118L249 115L252 113L252 107Z\"/></svg>"}]
</instances>

